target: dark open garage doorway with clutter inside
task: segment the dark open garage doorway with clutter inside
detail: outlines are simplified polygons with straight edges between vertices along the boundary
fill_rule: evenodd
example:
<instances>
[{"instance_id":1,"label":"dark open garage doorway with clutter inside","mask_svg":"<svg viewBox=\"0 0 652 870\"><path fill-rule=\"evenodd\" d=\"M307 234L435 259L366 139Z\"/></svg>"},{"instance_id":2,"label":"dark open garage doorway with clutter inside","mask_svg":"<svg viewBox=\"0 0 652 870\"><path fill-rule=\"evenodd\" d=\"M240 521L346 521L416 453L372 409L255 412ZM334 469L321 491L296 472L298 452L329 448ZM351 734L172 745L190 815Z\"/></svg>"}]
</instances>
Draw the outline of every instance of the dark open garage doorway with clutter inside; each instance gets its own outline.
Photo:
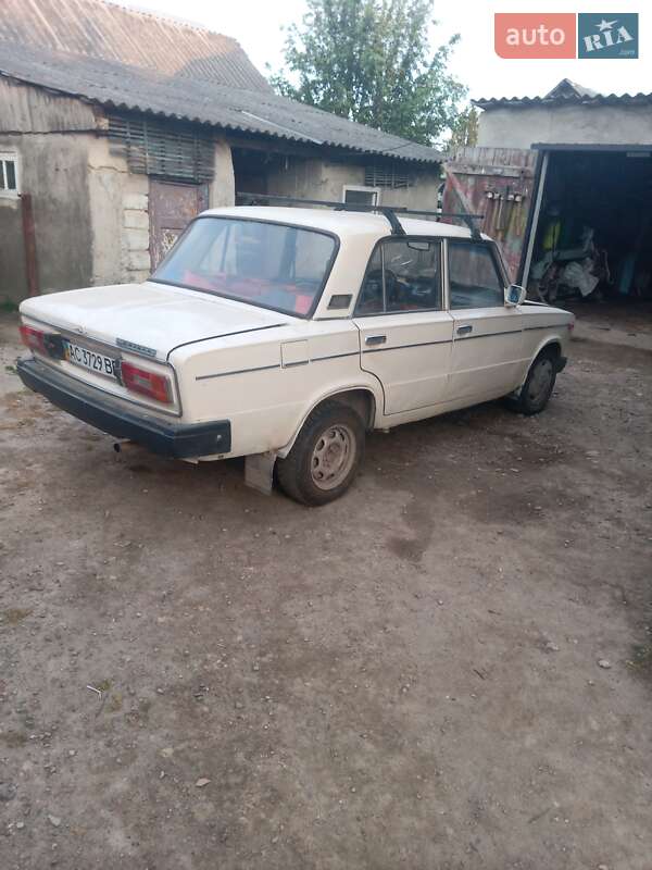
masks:
<instances>
[{"instance_id":1,"label":"dark open garage doorway with clutter inside","mask_svg":"<svg viewBox=\"0 0 652 870\"><path fill-rule=\"evenodd\" d=\"M652 154L549 151L528 295L546 302L652 299Z\"/></svg>"}]
</instances>

